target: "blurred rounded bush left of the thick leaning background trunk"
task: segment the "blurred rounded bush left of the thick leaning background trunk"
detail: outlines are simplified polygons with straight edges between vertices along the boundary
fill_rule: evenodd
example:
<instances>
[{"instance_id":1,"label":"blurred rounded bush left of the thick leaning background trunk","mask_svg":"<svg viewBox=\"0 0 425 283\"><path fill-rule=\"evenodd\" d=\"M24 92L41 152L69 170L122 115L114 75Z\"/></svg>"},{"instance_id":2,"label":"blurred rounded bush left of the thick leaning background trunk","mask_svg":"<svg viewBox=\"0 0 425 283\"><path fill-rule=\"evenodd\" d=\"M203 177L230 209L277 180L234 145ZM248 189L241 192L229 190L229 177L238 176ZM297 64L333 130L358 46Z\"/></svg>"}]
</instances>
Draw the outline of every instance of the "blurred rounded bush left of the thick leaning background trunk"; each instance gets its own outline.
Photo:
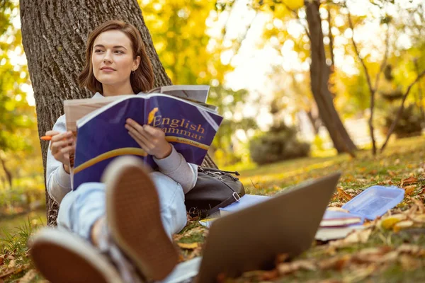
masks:
<instances>
[{"instance_id":1,"label":"blurred rounded bush left of the thick leaning background trunk","mask_svg":"<svg viewBox=\"0 0 425 283\"><path fill-rule=\"evenodd\" d=\"M280 125L251 140L251 159L257 164L273 163L308 156L310 144L297 139L295 127Z\"/></svg>"}]
</instances>

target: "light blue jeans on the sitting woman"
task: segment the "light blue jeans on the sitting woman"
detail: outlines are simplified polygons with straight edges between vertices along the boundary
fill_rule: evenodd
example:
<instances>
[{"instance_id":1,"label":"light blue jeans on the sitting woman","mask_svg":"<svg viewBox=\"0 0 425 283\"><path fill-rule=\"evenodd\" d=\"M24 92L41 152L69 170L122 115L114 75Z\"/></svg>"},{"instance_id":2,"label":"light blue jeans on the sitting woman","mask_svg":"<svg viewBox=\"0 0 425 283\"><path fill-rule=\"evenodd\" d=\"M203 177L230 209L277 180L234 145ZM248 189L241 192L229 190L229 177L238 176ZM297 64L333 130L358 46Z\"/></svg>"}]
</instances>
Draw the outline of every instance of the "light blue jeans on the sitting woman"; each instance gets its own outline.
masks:
<instances>
[{"instance_id":1,"label":"light blue jeans on the sitting woman","mask_svg":"<svg viewBox=\"0 0 425 283\"><path fill-rule=\"evenodd\" d=\"M157 188L164 230L171 238L173 233L178 233L186 226L183 188L163 173L152 172L149 176ZM78 190L72 190L65 195L57 215L57 225L91 241L91 227L105 215L105 184L84 183Z\"/></svg>"}]
</instances>

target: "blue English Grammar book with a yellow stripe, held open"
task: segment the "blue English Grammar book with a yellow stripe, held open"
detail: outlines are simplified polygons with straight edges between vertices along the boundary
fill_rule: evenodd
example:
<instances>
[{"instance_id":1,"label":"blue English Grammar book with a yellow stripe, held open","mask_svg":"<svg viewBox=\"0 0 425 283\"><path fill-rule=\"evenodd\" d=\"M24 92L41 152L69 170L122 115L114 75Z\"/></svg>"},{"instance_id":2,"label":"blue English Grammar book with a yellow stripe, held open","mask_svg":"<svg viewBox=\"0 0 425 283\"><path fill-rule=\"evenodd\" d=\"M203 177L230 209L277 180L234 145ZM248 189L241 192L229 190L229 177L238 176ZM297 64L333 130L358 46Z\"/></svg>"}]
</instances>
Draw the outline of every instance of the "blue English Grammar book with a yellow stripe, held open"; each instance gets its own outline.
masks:
<instances>
[{"instance_id":1,"label":"blue English Grammar book with a yellow stripe, held open","mask_svg":"<svg viewBox=\"0 0 425 283\"><path fill-rule=\"evenodd\" d=\"M88 99L90 100L90 99ZM120 96L77 120L73 187L99 182L113 158L133 155L156 168L148 155L125 129L131 118L140 125L158 127L166 140L188 163L200 165L214 139L222 117L193 101L165 94Z\"/></svg>"}]
</instances>

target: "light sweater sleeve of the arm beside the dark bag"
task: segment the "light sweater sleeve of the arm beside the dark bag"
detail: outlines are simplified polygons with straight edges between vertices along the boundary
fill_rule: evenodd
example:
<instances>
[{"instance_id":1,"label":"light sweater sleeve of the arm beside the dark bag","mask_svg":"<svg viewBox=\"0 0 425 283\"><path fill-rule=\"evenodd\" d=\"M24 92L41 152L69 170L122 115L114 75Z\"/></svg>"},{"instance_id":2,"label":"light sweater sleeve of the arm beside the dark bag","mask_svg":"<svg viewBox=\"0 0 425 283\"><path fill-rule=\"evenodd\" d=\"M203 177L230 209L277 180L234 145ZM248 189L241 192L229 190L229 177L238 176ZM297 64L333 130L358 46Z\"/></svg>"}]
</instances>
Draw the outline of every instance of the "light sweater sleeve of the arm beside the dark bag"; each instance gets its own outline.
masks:
<instances>
[{"instance_id":1,"label":"light sweater sleeve of the arm beside the dark bag","mask_svg":"<svg viewBox=\"0 0 425 283\"><path fill-rule=\"evenodd\" d=\"M195 187L198 180L198 166L186 162L186 159L174 149L174 146L171 147L169 156L162 159L154 157L154 161L159 167L159 172L179 183L186 194Z\"/></svg>"}]
</instances>

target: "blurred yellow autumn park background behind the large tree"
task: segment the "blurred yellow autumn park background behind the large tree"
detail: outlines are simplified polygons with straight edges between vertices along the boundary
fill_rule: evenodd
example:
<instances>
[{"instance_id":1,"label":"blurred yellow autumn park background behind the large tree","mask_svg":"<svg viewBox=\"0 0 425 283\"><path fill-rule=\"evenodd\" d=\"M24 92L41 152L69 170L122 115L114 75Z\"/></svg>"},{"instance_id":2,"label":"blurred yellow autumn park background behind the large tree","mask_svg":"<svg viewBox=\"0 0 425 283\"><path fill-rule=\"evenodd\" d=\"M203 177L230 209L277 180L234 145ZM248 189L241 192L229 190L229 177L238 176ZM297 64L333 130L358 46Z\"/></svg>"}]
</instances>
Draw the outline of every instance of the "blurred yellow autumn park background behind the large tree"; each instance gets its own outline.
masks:
<instances>
[{"instance_id":1,"label":"blurred yellow autumn park background behind the large tree","mask_svg":"<svg viewBox=\"0 0 425 283\"><path fill-rule=\"evenodd\" d=\"M210 156L248 192L345 169L336 203L410 177L420 198L424 1L137 3L171 82L211 86L225 122ZM46 223L45 180L19 3L0 4L0 236L15 244Z\"/></svg>"}]
</instances>

